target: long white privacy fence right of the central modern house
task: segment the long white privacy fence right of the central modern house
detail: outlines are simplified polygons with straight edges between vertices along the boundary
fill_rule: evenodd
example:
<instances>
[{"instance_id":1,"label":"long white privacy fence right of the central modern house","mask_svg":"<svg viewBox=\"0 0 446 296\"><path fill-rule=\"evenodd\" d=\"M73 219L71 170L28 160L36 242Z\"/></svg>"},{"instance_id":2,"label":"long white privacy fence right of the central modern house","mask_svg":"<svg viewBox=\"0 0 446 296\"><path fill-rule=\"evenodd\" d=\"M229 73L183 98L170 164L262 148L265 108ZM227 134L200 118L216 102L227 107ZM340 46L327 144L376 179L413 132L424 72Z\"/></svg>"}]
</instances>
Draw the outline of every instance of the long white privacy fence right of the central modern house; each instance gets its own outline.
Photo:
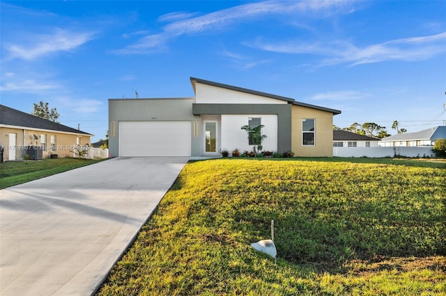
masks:
<instances>
[{"instance_id":1,"label":"long white privacy fence right of the central modern house","mask_svg":"<svg viewBox=\"0 0 446 296\"><path fill-rule=\"evenodd\" d=\"M338 157L435 157L433 147L333 147Z\"/></svg>"}]
</instances>

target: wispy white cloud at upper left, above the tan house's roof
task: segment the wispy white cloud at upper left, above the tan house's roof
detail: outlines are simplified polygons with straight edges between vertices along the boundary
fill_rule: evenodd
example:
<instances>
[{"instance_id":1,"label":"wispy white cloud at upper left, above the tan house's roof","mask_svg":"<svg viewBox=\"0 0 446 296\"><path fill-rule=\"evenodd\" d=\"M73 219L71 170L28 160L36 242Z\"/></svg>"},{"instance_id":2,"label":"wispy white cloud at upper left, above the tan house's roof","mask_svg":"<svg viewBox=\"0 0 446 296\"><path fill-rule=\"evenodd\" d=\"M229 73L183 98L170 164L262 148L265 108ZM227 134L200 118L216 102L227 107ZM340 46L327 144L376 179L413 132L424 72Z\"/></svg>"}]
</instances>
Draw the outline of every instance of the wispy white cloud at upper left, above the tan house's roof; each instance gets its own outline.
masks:
<instances>
[{"instance_id":1,"label":"wispy white cloud at upper left, above the tan house's roof","mask_svg":"<svg viewBox=\"0 0 446 296\"><path fill-rule=\"evenodd\" d=\"M36 35L29 38L27 45L6 44L4 47L9 52L9 58L22 60L34 60L58 51L70 51L93 39L94 33L77 33L56 29L52 34Z\"/></svg>"}]
</instances>

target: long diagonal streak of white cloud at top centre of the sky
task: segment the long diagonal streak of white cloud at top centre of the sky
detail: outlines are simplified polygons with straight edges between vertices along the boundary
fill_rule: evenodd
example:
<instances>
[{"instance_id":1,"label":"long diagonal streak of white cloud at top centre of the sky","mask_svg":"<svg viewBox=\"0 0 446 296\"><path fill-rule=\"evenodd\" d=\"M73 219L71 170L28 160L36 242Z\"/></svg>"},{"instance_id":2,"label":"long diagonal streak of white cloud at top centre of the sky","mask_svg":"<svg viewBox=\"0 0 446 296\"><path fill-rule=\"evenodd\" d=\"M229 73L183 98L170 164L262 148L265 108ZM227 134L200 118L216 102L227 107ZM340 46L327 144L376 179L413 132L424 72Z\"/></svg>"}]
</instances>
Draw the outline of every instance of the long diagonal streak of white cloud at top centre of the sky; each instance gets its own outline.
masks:
<instances>
[{"instance_id":1,"label":"long diagonal streak of white cloud at top centre of the sky","mask_svg":"<svg viewBox=\"0 0 446 296\"><path fill-rule=\"evenodd\" d=\"M225 28L236 22L249 22L254 18L266 15L290 15L307 13L309 11L323 11L337 13L339 10L351 12L349 1L261 1L242 4L199 17L171 22L163 27L162 32L141 38L136 44L115 51L118 54L138 54L152 51L155 47L162 47L166 42L180 35L200 33L203 31ZM194 14L190 14L192 16ZM174 13L160 17L163 21L186 17L183 13ZM178 19L177 18L177 19Z\"/></svg>"}]
</instances>

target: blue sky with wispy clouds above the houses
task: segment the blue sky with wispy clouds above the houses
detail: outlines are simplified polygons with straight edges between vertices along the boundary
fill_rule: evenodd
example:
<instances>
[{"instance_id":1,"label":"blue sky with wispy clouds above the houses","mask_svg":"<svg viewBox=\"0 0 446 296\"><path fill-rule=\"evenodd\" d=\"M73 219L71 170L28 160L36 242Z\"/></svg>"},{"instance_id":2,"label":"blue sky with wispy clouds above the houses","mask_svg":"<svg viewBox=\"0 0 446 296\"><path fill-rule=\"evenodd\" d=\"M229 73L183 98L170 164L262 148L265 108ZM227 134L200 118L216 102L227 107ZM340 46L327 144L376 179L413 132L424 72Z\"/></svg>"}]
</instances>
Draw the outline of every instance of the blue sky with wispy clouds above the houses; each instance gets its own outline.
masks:
<instances>
[{"instance_id":1,"label":"blue sky with wispy clouds above the houses","mask_svg":"<svg viewBox=\"0 0 446 296\"><path fill-rule=\"evenodd\" d=\"M108 99L193 97L190 76L341 110L446 120L446 1L1 1L1 104L107 133Z\"/></svg>"}]
</instances>

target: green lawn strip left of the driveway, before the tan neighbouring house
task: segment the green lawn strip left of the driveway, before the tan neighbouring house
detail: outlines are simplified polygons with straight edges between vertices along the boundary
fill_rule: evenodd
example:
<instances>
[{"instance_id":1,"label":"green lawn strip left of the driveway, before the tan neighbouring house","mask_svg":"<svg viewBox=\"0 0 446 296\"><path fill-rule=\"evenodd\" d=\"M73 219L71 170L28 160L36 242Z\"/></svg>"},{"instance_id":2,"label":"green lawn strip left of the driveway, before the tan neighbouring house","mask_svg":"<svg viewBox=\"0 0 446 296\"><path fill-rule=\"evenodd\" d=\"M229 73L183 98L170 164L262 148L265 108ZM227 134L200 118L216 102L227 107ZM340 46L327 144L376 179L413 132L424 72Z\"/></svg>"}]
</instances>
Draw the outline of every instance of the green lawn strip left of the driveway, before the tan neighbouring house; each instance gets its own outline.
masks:
<instances>
[{"instance_id":1,"label":"green lawn strip left of the driveway, before the tan neighbouring house","mask_svg":"<svg viewBox=\"0 0 446 296\"><path fill-rule=\"evenodd\" d=\"M103 159L45 158L42 161L0 163L0 189L51 176L52 174L59 174L77 167L91 165L99 161L103 161Z\"/></svg>"}]
</instances>

